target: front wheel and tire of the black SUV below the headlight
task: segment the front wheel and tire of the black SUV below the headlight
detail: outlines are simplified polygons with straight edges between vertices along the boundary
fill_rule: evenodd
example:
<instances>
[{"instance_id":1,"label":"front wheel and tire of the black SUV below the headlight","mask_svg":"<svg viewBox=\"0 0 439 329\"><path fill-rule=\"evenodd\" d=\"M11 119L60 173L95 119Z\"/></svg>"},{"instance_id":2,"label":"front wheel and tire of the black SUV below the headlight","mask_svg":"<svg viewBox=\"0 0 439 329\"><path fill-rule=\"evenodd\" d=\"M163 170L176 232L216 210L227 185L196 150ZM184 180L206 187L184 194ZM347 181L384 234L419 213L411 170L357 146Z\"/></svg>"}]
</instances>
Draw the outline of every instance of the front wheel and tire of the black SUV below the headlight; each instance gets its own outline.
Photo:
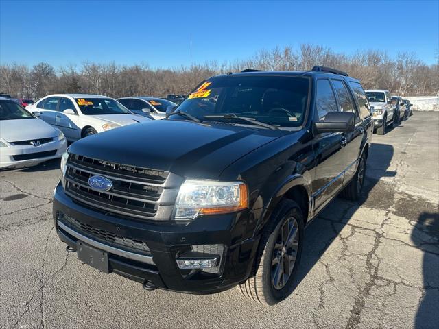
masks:
<instances>
[{"instance_id":1,"label":"front wheel and tire of the black SUV below the headlight","mask_svg":"<svg viewBox=\"0 0 439 329\"><path fill-rule=\"evenodd\" d=\"M300 206L290 199L281 200L261 236L252 274L237 286L238 291L263 305L274 305L285 300L294 290L294 277L302 255L303 233ZM287 236L285 244L281 243L281 235ZM285 264L285 260L289 263ZM285 270L289 271L289 275L285 275Z\"/></svg>"}]
</instances>

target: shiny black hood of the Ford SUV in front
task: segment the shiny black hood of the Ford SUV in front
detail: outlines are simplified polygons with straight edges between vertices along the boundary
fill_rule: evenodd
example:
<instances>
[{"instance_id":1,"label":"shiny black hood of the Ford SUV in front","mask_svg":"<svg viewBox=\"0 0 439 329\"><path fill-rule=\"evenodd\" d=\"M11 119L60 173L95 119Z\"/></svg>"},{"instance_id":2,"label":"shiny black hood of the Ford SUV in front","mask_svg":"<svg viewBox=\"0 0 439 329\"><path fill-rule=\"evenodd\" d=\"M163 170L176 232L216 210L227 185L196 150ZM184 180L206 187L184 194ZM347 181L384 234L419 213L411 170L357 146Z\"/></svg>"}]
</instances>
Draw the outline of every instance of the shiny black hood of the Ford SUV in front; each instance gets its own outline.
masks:
<instances>
[{"instance_id":1,"label":"shiny black hood of the Ford SUV in front","mask_svg":"<svg viewBox=\"0 0 439 329\"><path fill-rule=\"evenodd\" d=\"M69 152L190 178L218 179L229 164L288 132L155 120L76 141Z\"/></svg>"}]
</instances>

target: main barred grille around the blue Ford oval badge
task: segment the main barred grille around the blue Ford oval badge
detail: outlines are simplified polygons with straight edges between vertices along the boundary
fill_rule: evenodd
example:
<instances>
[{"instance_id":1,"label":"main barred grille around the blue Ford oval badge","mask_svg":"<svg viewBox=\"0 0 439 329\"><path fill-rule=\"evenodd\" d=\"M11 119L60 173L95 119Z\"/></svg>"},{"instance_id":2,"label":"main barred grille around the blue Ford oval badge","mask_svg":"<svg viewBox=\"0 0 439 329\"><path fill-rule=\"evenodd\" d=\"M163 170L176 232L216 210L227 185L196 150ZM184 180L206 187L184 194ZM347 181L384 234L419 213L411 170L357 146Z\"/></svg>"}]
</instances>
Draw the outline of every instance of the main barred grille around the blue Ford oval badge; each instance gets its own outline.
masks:
<instances>
[{"instance_id":1,"label":"main barred grille around the blue Ford oval badge","mask_svg":"<svg viewBox=\"0 0 439 329\"><path fill-rule=\"evenodd\" d=\"M88 178L102 175L112 182L110 191L95 191ZM160 204L175 201L176 190L165 187L169 173L125 164L115 164L71 154L65 173L65 192L90 208L124 217L153 219ZM167 190L167 196L162 197ZM174 193L172 193L174 192ZM170 199L169 199L170 194ZM174 197L174 199L173 199Z\"/></svg>"}]
</instances>

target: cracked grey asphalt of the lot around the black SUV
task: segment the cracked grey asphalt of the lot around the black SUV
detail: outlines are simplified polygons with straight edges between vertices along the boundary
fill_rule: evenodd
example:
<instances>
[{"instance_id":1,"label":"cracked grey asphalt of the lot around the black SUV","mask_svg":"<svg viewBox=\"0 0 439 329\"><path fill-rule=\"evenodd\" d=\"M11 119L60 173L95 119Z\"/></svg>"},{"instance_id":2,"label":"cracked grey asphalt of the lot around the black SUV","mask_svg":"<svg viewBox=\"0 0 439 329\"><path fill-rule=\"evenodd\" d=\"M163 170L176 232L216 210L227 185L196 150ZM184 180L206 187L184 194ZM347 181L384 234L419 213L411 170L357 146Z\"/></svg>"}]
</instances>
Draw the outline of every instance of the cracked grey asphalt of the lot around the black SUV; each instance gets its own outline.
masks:
<instances>
[{"instance_id":1,"label":"cracked grey asphalt of the lot around the black SUV","mask_svg":"<svg viewBox=\"0 0 439 329\"><path fill-rule=\"evenodd\" d=\"M439 112L373 136L364 197L308 226L297 287L271 308L82 265L51 220L58 167L0 172L1 328L439 328Z\"/></svg>"}]
</instances>

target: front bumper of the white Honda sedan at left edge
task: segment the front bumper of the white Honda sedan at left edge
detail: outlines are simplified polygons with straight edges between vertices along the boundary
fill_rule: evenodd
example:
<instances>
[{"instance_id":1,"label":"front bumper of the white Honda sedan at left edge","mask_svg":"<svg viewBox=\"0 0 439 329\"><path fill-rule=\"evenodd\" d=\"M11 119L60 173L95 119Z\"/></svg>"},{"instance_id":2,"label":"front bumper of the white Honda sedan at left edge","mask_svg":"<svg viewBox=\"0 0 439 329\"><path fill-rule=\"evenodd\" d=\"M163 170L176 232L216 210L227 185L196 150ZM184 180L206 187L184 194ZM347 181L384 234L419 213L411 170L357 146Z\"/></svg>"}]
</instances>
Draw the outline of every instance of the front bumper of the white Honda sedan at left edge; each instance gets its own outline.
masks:
<instances>
[{"instance_id":1,"label":"front bumper of the white Honda sedan at left edge","mask_svg":"<svg viewBox=\"0 0 439 329\"><path fill-rule=\"evenodd\" d=\"M41 162L47 160L60 158L62 154L67 150L67 141L64 138L62 141L53 141L37 147L29 146L13 146L4 147L0 153L0 169L16 169L24 167L32 167ZM49 156L40 156L44 153L54 153ZM35 158L32 158L32 154L36 154ZM15 160L14 156L29 156L26 160Z\"/></svg>"}]
</instances>

